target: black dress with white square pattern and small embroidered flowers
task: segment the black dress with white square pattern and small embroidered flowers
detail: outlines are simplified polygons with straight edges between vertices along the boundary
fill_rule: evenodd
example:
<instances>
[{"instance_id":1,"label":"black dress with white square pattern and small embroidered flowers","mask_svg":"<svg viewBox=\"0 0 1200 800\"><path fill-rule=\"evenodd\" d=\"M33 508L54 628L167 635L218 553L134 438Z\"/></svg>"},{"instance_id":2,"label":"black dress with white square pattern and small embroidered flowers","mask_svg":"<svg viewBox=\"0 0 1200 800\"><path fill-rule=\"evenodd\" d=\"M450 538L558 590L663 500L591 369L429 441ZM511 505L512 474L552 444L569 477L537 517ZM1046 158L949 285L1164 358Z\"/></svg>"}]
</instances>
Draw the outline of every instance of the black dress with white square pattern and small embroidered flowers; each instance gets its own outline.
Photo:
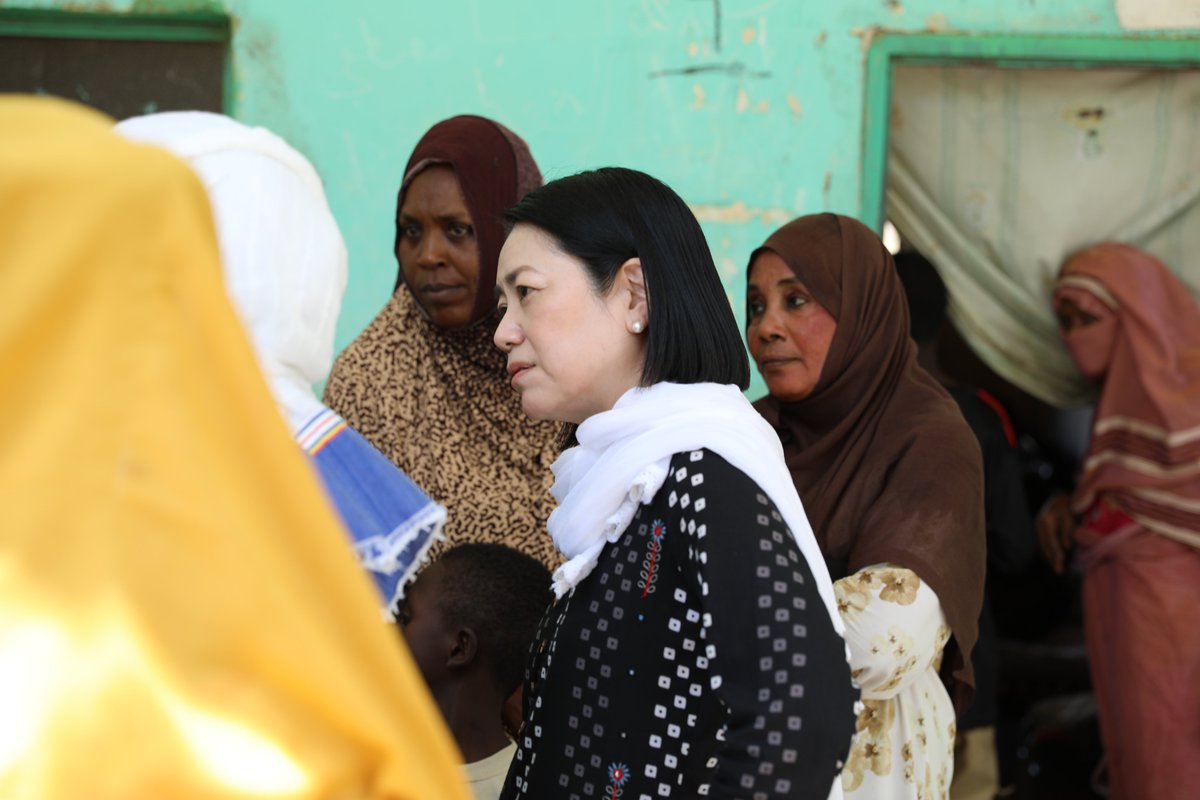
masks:
<instances>
[{"instance_id":1,"label":"black dress with white square pattern and small embroidered flowers","mask_svg":"<svg viewBox=\"0 0 1200 800\"><path fill-rule=\"evenodd\" d=\"M708 450L538 631L502 798L814 798L854 733L858 691L774 504Z\"/></svg>"}]
</instances>

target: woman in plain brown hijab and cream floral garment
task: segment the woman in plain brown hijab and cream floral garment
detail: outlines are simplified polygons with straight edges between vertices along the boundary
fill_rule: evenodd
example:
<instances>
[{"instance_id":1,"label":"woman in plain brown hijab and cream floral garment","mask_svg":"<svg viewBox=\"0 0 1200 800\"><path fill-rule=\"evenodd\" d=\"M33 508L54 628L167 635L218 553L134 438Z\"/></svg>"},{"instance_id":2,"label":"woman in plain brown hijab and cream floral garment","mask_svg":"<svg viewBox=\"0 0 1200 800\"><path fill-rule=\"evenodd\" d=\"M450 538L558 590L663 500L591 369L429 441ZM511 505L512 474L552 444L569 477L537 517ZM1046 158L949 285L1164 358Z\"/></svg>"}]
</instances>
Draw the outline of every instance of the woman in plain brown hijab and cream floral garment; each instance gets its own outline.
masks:
<instances>
[{"instance_id":1,"label":"woman in plain brown hijab and cream floral garment","mask_svg":"<svg viewBox=\"0 0 1200 800\"><path fill-rule=\"evenodd\" d=\"M862 223L823 213L776 230L750 257L746 302L770 392L756 408L782 440L863 688L842 787L947 796L983 591L979 446L917 366L892 257Z\"/></svg>"}]
</instances>

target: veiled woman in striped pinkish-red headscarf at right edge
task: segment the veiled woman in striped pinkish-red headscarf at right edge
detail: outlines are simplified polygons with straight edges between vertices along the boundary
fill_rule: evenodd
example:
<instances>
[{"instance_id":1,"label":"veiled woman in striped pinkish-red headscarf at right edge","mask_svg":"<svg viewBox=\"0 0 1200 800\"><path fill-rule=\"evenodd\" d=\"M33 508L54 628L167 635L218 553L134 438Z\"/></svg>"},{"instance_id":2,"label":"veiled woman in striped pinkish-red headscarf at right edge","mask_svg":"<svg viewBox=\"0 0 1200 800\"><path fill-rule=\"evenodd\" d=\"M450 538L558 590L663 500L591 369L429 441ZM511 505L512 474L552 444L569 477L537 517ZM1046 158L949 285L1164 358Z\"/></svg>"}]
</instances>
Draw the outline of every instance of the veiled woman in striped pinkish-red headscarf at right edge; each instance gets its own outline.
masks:
<instances>
[{"instance_id":1,"label":"veiled woman in striped pinkish-red headscarf at right edge","mask_svg":"<svg viewBox=\"0 0 1200 800\"><path fill-rule=\"evenodd\" d=\"M1074 494L1038 521L1084 567L1084 624L1111 795L1200 786L1200 307L1153 257L1103 243L1055 290L1063 341L1100 383Z\"/></svg>"}]
</instances>

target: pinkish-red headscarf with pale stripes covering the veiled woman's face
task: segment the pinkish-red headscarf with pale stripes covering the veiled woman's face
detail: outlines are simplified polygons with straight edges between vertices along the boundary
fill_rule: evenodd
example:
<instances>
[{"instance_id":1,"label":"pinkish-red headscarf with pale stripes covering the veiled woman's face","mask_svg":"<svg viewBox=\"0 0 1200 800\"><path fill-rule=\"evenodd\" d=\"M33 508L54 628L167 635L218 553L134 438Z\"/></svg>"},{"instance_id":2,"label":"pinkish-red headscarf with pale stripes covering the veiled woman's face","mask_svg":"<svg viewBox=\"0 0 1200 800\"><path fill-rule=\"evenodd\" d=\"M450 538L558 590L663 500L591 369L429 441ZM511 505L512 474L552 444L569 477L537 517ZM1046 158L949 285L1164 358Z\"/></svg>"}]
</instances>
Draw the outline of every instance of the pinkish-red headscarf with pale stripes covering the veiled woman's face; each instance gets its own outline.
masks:
<instances>
[{"instance_id":1,"label":"pinkish-red headscarf with pale stripes covering the veiled woman's face","mask_svg":"<svg viewBox=\"0 0 1200 800\"><path fill-rule=\"evenodd\" d=\"M1063 341L1103 379L1075 512L1109 494L1146 528L1200 547L1200 307L1156 258L1112 242L1067 260L1063 300L1098 318Z\"/></svg>"}]
</instances>

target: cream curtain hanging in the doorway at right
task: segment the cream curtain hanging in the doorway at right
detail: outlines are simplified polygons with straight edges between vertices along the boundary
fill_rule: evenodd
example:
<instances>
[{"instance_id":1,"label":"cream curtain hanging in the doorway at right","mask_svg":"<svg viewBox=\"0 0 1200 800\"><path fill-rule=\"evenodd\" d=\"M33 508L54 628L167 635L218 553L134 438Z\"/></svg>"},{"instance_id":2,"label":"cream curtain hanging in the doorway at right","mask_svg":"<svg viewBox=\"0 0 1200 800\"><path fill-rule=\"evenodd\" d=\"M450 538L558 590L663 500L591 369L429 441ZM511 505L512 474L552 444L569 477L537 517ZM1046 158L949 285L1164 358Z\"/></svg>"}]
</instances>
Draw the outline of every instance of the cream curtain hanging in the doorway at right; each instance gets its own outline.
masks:
<instances>
[{"instance_id":1,"label":"cream curtain hanging in the doorway at right","mask_svg":"<svg viewBox=\"0 0 1200 800\"><path fill-rule=\"evenodd\" d=\"M901 67L887 212L1001 377L1087 402L1050 303L1067 255L1126 241L1200 295L1200 72Z\"/></svg>"}]
</instances>

